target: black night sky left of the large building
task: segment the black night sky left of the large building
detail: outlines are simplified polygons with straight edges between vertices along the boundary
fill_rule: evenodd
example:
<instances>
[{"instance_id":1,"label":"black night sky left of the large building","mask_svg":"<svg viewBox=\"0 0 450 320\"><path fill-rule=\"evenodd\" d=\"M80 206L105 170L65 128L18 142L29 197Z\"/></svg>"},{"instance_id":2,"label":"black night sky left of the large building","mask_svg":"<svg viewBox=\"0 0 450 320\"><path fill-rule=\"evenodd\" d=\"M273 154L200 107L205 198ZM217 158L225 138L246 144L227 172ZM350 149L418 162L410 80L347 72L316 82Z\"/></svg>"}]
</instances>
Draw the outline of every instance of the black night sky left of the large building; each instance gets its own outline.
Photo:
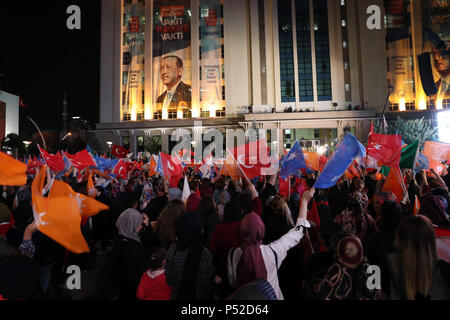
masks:
<instances>
[{"instance_id":1,"label":"black night sky left of the large building","mask_svg":"<svg viewBox=\"0 0 450 320\"><path fill-rule=\"evenodd\" d=\"M81 30L66 27L70 5L81 9ZM69 117L97 123L99 71L100 0L0 1L0 90L29 105L22 118L60 129L66 90ZM20 124L21 131L30 125Z\"/></svg>"}]
</instances>

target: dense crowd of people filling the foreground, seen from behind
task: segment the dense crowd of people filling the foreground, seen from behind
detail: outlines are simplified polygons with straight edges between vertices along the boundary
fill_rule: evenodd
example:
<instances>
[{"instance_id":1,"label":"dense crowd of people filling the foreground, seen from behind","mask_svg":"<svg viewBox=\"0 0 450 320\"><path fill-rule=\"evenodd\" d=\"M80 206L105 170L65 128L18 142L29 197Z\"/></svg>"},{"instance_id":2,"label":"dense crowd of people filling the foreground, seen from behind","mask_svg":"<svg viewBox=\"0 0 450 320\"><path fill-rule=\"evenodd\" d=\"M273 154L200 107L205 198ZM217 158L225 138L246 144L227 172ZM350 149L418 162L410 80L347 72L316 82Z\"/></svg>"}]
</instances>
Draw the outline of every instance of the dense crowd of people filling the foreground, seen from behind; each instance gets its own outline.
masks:
<instances>
[{"instance_id":1,"label":"dense crowd of people filling the foreground, seen from behind","mask_svg":"<svg viewBox=\"0 0 450 320\"><path fill-rule=\"evenodd\" d=\"M277 174L210 179L185 168L186 201L184 176L177 188L145 170L120 181L95 176L95 198L109 210L83 221L83 254L38 230L29 179L0 194L0 297L450 299L450 263L440 260L435 235L436 227L450 230L447 171L405 170L401 201L364 168L326 190L314 189L317 172L291 177L288 194ZM61 179L86 193L86 182ZM71 265L81 270L81 289L67 285ZM369 266L379 267L380 285L368 285Z\"/></svg>"}]
</instances>

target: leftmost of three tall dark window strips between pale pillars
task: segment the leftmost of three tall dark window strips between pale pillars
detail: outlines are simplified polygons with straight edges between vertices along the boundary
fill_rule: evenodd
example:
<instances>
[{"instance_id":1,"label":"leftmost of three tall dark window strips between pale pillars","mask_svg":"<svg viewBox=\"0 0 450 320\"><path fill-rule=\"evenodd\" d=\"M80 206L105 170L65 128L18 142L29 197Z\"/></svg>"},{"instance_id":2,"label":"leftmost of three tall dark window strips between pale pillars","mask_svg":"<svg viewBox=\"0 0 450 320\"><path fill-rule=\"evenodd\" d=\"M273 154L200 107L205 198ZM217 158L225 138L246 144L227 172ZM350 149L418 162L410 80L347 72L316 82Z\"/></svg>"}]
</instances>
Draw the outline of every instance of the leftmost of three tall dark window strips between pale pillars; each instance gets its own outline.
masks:
<instances>
[{"instance_id":1,"label":"leftmost of three tall dark window strips between pale pillars","mask_svg":"<svg viewBox=\"0 0 450 320\"><path fill-rule=\"evenodd\" d=\"M278 1L281 102L295 102L294 45L290 1Z\"/></svg>"}]
</instances>

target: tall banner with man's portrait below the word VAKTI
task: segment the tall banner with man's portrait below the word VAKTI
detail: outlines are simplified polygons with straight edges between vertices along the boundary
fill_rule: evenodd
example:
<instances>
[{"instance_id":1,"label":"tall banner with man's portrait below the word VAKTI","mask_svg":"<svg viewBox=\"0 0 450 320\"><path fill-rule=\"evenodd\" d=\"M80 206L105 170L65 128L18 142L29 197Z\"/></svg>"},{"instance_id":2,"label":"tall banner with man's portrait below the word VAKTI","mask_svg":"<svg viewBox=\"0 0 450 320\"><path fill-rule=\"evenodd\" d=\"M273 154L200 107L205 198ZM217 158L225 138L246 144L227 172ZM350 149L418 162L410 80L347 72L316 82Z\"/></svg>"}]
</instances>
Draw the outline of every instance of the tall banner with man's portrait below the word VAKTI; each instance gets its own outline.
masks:
<instances>
[{"instance_id":1,"label":"tall banner with man's portrait below the word VAKTI","mask_svg":"<svg viewBox=\"0 0 450 320\"><path fill-rule=\"evenodd\" d=\"M153 2L153 118L188 117L192 103L190 0Z\"/></svg>"}]
</instances>

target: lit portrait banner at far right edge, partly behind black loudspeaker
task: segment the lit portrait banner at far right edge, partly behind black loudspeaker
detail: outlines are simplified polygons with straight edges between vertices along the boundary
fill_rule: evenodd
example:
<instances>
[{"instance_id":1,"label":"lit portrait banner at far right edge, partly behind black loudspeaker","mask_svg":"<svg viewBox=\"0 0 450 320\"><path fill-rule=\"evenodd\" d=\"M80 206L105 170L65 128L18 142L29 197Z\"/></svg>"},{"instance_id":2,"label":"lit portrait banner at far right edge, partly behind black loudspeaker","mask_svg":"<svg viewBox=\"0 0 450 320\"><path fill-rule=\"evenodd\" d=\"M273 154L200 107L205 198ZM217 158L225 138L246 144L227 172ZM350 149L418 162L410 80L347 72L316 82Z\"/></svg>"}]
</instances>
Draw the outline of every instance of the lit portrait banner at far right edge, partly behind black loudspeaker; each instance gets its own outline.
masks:
<instances>
[{"instance_id":1,"label":"lit portrait banner at far right edge, partly behind black loudspeaker","mask_svg":"<svg viewBox=\"0 0 450 320\"><path fill-rule=\"evenodd\" d=\"M450 99L450 0L422 0L422 86L437 109Z\"/></svg>"}]
</instances>

